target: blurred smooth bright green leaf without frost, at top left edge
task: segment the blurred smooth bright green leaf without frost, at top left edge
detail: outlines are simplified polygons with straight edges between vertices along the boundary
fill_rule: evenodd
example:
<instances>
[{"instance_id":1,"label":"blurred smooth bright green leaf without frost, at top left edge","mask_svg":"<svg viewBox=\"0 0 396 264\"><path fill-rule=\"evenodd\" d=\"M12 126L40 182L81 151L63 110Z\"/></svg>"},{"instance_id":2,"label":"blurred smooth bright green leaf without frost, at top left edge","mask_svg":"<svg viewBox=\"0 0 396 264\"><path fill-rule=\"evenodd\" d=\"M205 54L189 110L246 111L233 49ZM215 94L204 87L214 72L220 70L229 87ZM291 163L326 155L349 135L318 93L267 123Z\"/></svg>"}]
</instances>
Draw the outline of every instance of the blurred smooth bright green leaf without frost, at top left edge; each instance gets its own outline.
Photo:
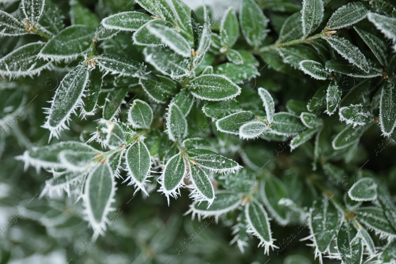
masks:
<instances>
[{"instance_id":1,"label":"blurred smooth bright green leaf without frost, at top left edge","mask_svg":"<svg viewBox=\"0 0 396 264\"><path fill-rule=\"evenodd\" d=\"M77 0L70 2L70 20L72 25L86 25L93 29L99 27L99 18L97 15Z\"/></svg>"}]
</instances>

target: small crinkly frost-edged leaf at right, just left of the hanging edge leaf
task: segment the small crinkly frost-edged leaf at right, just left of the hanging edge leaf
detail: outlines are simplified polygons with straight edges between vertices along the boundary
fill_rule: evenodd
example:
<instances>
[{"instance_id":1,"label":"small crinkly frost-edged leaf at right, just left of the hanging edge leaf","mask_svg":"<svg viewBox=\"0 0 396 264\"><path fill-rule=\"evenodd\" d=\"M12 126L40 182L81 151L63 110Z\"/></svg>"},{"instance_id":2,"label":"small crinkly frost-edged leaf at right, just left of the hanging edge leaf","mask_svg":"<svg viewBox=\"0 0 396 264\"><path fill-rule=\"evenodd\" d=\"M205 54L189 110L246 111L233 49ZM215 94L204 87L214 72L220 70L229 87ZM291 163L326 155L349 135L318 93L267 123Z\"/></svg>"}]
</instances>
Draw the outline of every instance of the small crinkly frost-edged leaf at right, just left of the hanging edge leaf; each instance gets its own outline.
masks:
<instances>
[{"instance_id":1,"label":"small crinkly frost-edged leaf at right, just left of the hanging edge leaf","mask_svg":"<svg viewBox=\"0 0 396 264\"><path fill-rule=\"evenodd\" d=\"M371 121L371 113L368 108L362 104L351 104L350 106L341 107L339 112L340 121L346 121L346 124L366 125Z\"/></svg>"}]
</instances>

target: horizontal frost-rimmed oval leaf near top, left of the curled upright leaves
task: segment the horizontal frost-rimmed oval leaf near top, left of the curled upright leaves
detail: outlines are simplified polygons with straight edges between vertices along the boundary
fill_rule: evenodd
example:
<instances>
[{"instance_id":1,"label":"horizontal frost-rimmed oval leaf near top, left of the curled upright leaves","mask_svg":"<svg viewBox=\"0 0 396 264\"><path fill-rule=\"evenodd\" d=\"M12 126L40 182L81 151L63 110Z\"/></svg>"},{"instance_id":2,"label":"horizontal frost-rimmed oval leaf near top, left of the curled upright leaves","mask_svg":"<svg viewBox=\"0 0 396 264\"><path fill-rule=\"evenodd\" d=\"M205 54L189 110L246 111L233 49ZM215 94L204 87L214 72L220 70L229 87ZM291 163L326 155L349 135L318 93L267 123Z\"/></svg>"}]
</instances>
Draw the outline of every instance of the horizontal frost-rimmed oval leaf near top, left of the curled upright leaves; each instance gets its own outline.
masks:
<instances>
[{"instance_id":1,"label":"horizontal frost-rimmed oval leaf near top, left of the curled upright leaves","mask_svg":"<svg viewBox=\"0 0 396 264\"><path fill-rule=\"evenodd\" d=\"M152 17L145 13L126 11L105 17L101 24L105 28L135 31L150 20L152 20Z\"/></svg>"}]
</instances>

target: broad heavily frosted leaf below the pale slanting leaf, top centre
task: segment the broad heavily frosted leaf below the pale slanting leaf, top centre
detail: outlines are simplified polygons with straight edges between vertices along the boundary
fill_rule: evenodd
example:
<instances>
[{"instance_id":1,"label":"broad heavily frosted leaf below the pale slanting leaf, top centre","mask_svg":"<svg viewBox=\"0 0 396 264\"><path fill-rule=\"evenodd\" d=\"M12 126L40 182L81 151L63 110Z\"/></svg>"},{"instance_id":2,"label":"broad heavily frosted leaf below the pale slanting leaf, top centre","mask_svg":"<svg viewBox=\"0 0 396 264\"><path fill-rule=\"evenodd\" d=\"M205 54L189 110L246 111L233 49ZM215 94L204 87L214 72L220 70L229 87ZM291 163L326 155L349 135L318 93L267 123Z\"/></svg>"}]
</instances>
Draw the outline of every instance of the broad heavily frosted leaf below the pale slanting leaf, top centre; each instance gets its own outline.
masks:
<instances>
[{"instance_id":1,"label":"broad heavily frosted leaf below the pale slanting leaf, top centre","mask_svg":"<svg viewBox=\"0 0 396 264\"><path fill-rule=\"evenodd\" d=\"M190 75L190 61L166 47L148 46L143 49L146 61L162 74L172 79Z\"/></svg>"}]
</instances>

